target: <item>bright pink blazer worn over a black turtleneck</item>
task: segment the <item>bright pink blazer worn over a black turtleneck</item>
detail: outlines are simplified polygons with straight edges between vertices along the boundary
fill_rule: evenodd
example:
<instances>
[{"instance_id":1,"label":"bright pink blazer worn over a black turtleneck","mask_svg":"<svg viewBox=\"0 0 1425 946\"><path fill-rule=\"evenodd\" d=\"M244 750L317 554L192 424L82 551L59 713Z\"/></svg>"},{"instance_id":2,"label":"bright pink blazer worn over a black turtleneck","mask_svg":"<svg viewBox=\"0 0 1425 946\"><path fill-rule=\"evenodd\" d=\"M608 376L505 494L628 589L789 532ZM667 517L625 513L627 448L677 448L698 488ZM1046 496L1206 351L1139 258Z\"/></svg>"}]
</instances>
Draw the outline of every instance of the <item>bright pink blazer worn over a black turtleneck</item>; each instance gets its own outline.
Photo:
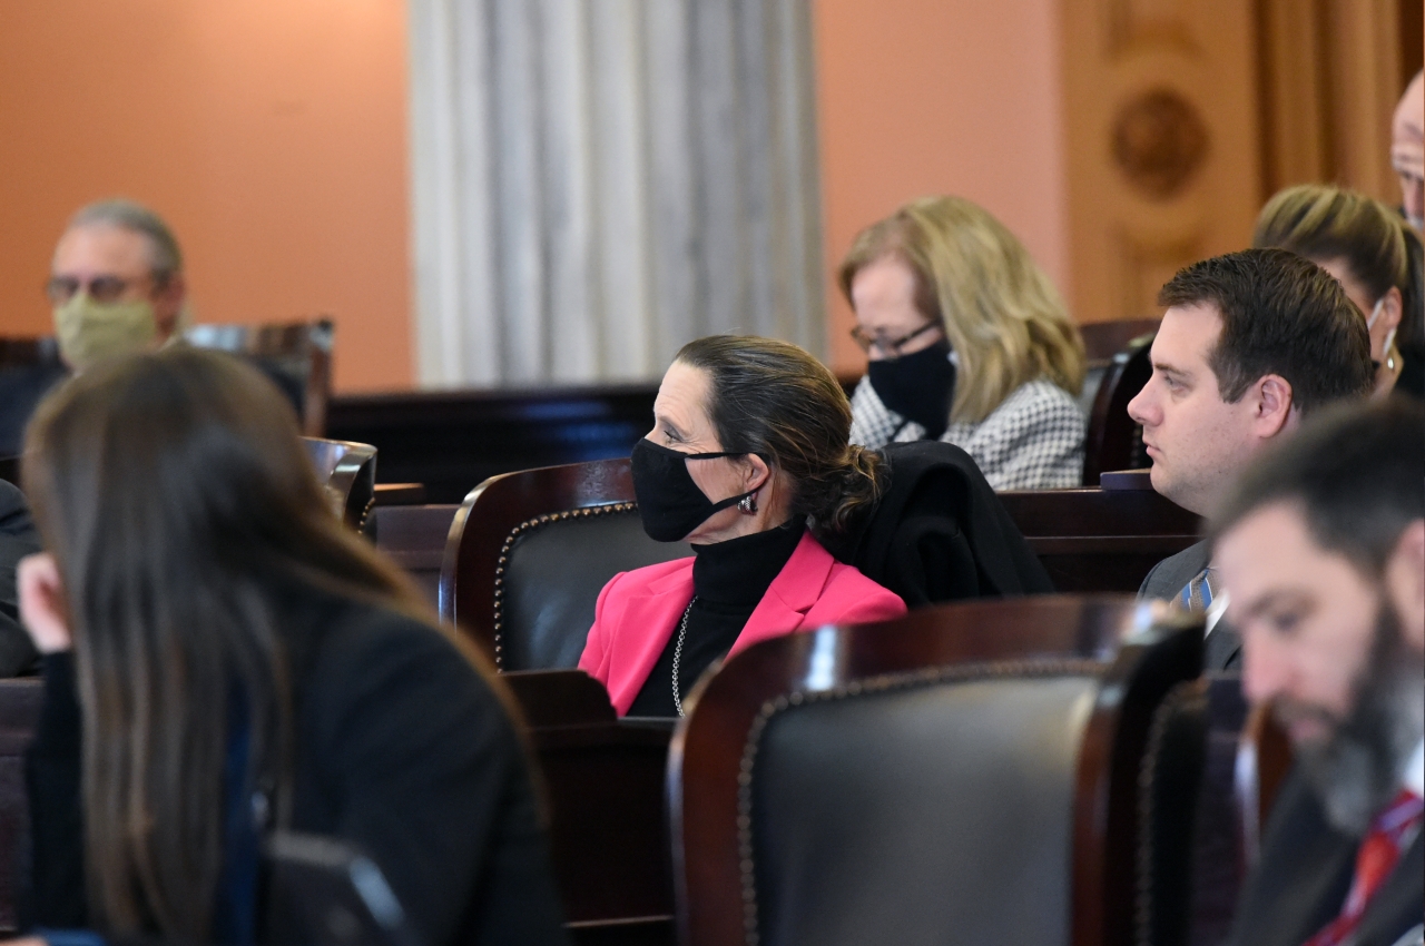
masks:
<instances>
[{"instance_id":1,"label":"bright pink blazer worn over a black turtleneck","mask_svg":"<svg viewBox=\"0 0 1425 946\"><path fill-rule=\"evenodd\" d=\"M643 690L691 600L691 557L621 571L598 593L579 668L604 684L620 717ZM832 558L807 533L747 618L728 657L792 631L902 614L905 603L895 593Z\"/></svg>"}]
</instances>

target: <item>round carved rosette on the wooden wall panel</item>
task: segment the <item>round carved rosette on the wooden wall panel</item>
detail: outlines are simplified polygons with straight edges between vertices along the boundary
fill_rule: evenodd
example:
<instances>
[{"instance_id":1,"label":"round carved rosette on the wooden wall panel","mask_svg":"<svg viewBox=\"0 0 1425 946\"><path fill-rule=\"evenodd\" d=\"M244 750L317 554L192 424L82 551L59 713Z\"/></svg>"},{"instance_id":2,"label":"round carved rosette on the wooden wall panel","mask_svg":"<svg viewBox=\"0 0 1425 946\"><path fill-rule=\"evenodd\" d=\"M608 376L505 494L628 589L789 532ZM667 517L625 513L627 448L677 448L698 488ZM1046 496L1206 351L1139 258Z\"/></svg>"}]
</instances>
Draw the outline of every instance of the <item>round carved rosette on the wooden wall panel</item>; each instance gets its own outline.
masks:
<instances>
[{"instance_id":1,"label":"round carved rosette on the wooden wall panel","mask_svg":"<svg viewBox=\"0 0 1425 946\"><path fill-rule=\"evenodd\" d=\"M1207 158L1208 135L1197 108L1171 88L1151 88L1113 121L1113 160L1154 201L1176 197Z\"/></svg>"}]
</instances>

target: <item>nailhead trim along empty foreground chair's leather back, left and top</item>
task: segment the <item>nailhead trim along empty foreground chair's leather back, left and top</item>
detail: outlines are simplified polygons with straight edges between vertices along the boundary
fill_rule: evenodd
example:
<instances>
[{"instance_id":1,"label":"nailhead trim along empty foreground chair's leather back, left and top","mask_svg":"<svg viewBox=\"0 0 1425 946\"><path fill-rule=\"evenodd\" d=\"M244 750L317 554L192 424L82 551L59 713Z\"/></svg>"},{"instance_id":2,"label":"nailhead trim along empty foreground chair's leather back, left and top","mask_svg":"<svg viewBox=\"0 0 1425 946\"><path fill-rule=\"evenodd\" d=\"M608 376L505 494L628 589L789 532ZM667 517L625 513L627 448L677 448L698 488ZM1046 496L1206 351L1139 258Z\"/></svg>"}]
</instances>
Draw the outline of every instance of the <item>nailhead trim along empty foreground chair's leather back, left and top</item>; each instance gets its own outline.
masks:
<instances>
[{"instance_id":1,"label":"nailhead trim along empty foreground chair's leather back, left and top","mask_svg":"<svg viewBox=\"0 0 1425 946\"><path fill-rule=\"evenodd\" d=\"M742 880L742 937L747 946L758 946L761 933L757 929L757 868L752 861L752 771L757 766L757 751L762 732L772 717L792 707L829 702L898 690L915 690L939 682L970 682L996 677L1097 677L1103 664L1092 660L1010 660L982 664L952 664L949 667L926 667L925 670L901 674L882 674L868 680L854 680L844 687L805 692L794 690L777 700L768 700L747 731L742 747L742 762L737 775L737 862Z\"/></svg>"}]
</instances>

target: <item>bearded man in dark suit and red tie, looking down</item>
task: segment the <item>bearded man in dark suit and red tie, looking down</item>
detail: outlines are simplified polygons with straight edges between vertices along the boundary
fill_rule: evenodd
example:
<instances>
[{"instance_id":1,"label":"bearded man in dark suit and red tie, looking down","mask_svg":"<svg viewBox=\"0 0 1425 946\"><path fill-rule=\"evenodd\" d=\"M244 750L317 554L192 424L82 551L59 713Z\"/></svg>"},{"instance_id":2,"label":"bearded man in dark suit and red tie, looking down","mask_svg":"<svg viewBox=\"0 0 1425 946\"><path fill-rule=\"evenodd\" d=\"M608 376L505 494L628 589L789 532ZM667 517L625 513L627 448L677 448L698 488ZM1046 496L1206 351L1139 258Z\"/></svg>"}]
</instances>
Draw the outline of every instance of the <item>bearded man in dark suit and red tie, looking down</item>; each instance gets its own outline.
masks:
<instances>
[{"instance_id":1,"label":"bearded man in dark suit and red tie, looking down","mask_svg":"<svg viewBox=\"0 0 1425 946\"><path fill-rule=\"evenodd\" d=\"M1425 916L1425 407L1340 407L1213 523L1243 688L1287 729L1231 946L1419 943Z\"/></svg>"}]
</instances>

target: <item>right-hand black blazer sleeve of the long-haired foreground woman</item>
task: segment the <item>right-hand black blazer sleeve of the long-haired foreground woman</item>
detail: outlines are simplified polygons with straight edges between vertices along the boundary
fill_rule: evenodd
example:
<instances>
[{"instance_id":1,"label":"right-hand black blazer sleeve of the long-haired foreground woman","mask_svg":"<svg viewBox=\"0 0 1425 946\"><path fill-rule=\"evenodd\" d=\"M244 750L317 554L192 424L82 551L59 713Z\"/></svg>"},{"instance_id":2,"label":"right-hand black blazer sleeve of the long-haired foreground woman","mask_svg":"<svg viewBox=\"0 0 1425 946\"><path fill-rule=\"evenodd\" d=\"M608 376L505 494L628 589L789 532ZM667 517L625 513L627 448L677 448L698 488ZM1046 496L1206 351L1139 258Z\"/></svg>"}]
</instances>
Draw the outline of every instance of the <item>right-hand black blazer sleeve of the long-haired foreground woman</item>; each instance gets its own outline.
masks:
<instances>
[{"instance_id":1,"label":"right-hand black blazer sleeve of the long-haired foreground woman","mask_svg":"<svg viewBox=\"0 0 1425 946\"><path fill-rule=\"evenodd\" d=\"M370 853L432 946L563 942L514 724L439 631L375 615L328 635L306 698L329 833Z\"/></svg>"}]
</instances>

